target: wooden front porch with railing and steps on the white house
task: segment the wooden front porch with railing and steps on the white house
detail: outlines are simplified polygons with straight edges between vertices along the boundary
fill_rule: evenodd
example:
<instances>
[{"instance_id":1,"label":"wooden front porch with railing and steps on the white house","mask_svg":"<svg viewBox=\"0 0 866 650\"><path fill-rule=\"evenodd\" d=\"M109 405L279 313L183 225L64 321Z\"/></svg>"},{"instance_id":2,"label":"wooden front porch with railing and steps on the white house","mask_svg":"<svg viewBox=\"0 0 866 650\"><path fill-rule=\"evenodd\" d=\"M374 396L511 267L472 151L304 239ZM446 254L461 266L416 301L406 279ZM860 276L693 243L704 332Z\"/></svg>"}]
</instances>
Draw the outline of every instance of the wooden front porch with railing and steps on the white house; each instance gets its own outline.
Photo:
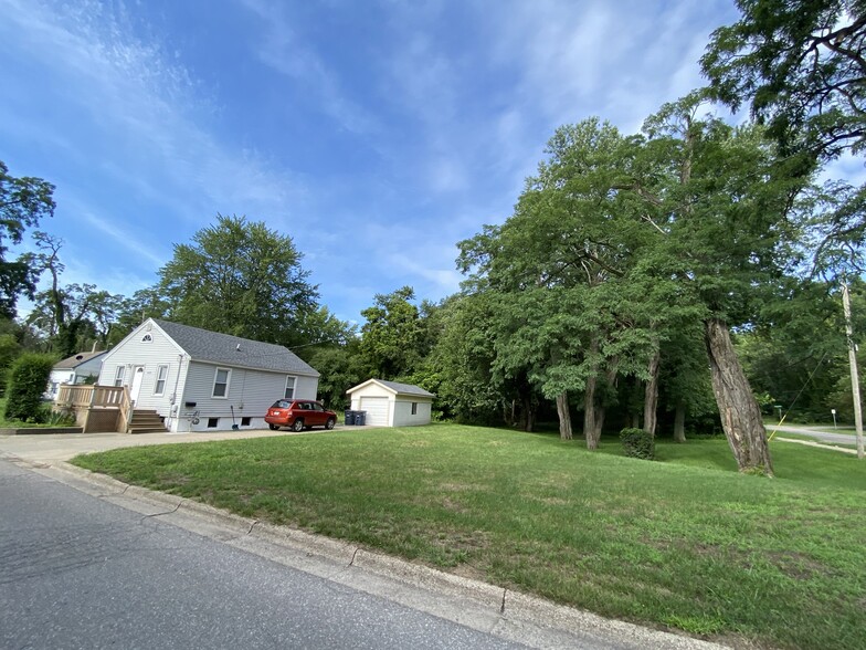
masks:
<instances>
[{"instance_id":1,"label":"wooden front porch with railing and steps on the white house","mask_svg":"<svg viewBox=\"0 0 866 650\"><path fill-rule=\"evenodd\" d=\"M136 409L126 386L87 386L62 384L54 409L75 415L84 433L165 432L156 411Z\"/></svg>"}]
</instances>

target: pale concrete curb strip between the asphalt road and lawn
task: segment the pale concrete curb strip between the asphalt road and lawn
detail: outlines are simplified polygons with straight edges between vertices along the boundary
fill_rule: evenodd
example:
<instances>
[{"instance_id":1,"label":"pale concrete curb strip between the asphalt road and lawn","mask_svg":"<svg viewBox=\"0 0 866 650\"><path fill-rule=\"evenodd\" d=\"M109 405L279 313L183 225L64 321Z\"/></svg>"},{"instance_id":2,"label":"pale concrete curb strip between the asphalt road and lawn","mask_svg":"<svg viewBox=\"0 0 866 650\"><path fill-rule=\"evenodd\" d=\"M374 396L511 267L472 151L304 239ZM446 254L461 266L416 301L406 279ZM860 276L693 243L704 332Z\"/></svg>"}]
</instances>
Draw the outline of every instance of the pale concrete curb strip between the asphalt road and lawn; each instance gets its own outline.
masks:
<instances>
[{"instance_id":1,"label":"pale concrete curb strip between the asphalt road and lawn","mask_svg":"<svg viewBox=\"0 0 866 650\"><path fill-rule=\"evenodd\" d=\"M308 573L336 579L353 588L531 647L574 648L592 642L611 648L634 649L728 648L691 637L605 619L537 596L374 553L348 542L242 517L190 499L129 485L63 461L50 464L23 459L15 461L119 505L124 505L122 501L127 500L159 506L159 512L146 516L165 518L170 524L194 533L234 542L235 546L287 566L306 570L302 564L293 562L292 557L300 555L313 558L334 568L330 575L321 570ZM81 485L82 483L88 485L89 490ZM138 507L126 507L144 512ZM202 527L200 524L190 524L190 518L203 520L205 525ZM260 543L270 545L270 548L263 552L258 548ZM365 578L361 574L372 575L372 578ZM401 595L399 585L413 593L409 596ZM448 600L456 601L457 606L448 608L444 605Z\"/></svg>"}]
</instances>

